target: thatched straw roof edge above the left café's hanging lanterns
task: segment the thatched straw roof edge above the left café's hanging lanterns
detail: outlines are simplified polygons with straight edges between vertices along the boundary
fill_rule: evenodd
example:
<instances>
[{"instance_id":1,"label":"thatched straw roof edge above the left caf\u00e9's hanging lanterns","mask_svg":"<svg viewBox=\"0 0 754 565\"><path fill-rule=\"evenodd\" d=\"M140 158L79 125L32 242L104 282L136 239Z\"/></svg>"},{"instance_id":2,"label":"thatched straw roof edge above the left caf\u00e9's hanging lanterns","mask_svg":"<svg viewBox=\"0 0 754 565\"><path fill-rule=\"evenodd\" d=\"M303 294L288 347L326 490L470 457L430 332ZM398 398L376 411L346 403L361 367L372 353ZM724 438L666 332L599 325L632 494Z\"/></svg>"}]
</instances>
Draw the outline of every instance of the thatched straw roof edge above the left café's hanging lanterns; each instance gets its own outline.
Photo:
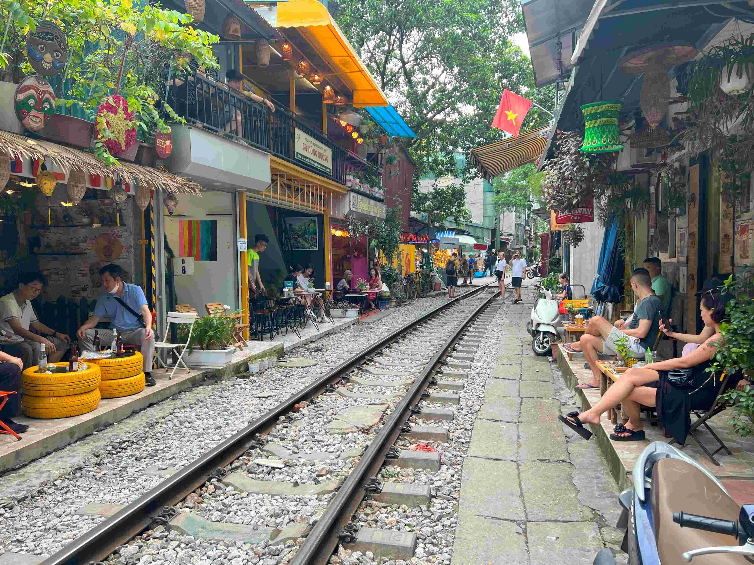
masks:
<instances>
[{"instance_id":1,"label":"thatched straw roof edge above the left caf\u00e9's hanging lanterns","mask_svg":"<svg viewBox=\"0 0 754 565\"><path fill-rule=\"evenodd\" d=\"M149 188L160 188L163 191L179 194L200 195L201 187L188 179L173 175L164 170L152 169L148 166L134 165L120 161L119 166L105 166L93 154L58 145L57 143L41 139L29 139L15 133L0 130L0 153L7 152L12 159L50 159L55 166L69 173L81 171L90 175L112 177L118 175L125 182L136 182Z\"/></svg>"}]
</instances>

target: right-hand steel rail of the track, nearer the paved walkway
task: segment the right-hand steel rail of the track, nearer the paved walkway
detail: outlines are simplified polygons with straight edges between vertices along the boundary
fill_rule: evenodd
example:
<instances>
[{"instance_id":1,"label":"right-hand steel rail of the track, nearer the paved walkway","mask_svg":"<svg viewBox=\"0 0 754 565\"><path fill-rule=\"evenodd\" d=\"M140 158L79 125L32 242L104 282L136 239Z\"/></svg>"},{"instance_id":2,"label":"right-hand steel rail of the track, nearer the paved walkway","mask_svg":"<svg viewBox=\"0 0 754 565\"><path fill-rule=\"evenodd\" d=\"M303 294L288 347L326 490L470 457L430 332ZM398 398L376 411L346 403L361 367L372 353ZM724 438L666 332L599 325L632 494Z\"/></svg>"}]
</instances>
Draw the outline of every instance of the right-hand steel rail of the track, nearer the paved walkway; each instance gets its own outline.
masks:
<instances>
[{"instance_id":1,"label":"right-hand steel rail of the track, nearer the paved walkway","mask_svg":"<svg viewBox=\"0 0 754 565\"><path fill-rule=\"evenodd\" d=\"M437 353L421 371L421 374L416 377L411 388L403 396L403 399L400 399L382 429L367 447L358 465L345 479L335 498L327 505L322 518L314 525L304 545L291 560L291 565L314 565L315 563L324 565L328 562L339 543L339 534L343 531L345 525L351 521L351 515L356 511L366 494L367 481L379 472L382 463L385 462L388 450L400 435L403 423L406 423L411 416L412 407L421 400L421 394L427 388L430 376L436 370L440 359L455 344L466 326L473 322L476 316L499 295L500 291L498 290L483 304L480 304L474 312L470 313L461 326L446 340L443 347L437 350Z\"/></svg>"}]
</instances>

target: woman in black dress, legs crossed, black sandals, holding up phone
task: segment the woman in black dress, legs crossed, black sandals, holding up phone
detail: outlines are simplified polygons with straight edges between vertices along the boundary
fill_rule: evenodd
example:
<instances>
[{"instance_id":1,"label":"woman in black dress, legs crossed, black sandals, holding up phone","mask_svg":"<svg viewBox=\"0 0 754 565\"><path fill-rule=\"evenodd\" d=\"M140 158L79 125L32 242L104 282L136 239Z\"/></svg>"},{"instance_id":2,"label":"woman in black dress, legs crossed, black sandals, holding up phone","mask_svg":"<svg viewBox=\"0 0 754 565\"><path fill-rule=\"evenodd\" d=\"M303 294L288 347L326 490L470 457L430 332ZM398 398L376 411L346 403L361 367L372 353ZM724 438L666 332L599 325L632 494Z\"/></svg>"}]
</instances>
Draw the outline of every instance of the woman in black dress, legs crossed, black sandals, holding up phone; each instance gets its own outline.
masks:
<instances>
[{"instance_id":1,"label":"woman in black dress, legs crossed, black sandals, holding up phone","mask_svg":"<svg viewBox=\"0 0 754 565\"><path fill-rule=\"evenodd\" d=\"M720 375L706 371L711 359L717 353L720 336L720 323L725 316L724 297L706 294L702 298L700 311L704 325L714 329L714 334L700 347L684 357L650 363L643 368L630 368L607 389L594 408L578 414L571 412L558 419L574 429L585 439L592 435L583 427L590 423L599 425L602 413L619 404L628 415L628 422L618 424L615 433L610 435L614 441L640 441L644 439L643 423L639 419L639 405L657 407L657 418L670 435L683 444L691 426L691 410L708 410L715 402L719 390ZM691 369L693 386L678 388L668 380L668 373L673 369ZM739 375L731 375L726 386L736 386Z\"/></svg>"}]
</instances>

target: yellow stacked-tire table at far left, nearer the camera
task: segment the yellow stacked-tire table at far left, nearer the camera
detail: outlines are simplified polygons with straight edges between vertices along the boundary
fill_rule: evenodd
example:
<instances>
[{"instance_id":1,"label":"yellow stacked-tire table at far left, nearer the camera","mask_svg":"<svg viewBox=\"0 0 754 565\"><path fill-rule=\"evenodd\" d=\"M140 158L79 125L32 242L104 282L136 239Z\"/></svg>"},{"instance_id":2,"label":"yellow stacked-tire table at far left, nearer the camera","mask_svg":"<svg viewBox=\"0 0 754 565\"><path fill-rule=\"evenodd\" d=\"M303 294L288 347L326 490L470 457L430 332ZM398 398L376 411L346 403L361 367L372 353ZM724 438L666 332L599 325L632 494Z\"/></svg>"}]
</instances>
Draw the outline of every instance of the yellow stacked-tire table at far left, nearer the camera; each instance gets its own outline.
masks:
<instances>
[{"instance_id":1,"label":"yellow stacked-tire table at far left, nearer the camera","mask_svg":"<svg viewBox=\"0 0 754 565\"><path fill-rule=\"evenodd\" d=\"M65 365L65 364L62 364ZM21 408L32 418L66 418L93 411L100 405L100 368L90 363L73 373L21 374Z\"/></svg>"}]
</instances>

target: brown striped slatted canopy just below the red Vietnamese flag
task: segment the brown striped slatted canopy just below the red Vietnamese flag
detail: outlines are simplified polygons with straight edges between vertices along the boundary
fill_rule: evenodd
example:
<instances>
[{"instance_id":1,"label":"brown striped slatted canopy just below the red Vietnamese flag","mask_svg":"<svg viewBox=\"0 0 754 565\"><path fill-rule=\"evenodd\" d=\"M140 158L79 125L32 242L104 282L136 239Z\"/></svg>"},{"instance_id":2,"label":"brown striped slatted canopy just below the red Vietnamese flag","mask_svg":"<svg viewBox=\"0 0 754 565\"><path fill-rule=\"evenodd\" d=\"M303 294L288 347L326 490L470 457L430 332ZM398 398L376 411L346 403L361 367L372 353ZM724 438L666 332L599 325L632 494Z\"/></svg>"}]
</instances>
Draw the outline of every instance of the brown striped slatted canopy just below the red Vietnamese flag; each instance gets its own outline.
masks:
<instances>
[{"instance_id":1,"label":"brown striped slatted canopy just below the red Vietnamese flag","mask_svg":"<svg viewBox=\"0 0 754 565\"><path fill-rule=\"evenodd\" d=\"M496 176L538 159L547 145L547 129L547 126L538 127L518 137L508 137L474 148L471 150L471 162L488 182L492 182Z\"/></svg>"}]
</instances>

